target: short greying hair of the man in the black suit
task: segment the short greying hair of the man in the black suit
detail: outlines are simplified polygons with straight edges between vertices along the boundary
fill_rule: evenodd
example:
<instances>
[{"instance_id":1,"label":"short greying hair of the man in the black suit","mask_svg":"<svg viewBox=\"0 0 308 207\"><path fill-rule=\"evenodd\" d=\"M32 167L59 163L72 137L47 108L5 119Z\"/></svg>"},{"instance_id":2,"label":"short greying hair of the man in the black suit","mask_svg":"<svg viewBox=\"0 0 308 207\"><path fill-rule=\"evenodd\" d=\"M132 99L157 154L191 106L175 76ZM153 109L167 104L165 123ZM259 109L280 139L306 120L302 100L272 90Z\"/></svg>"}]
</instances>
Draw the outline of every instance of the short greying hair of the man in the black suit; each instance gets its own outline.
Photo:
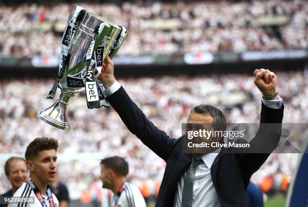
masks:
<instances>
[{"instance_id":1,"label":"short greying hair of the man in the black suit","mask_svg":"<svg viewBox=\"0 0 308 207\"><path fill-rule=\"evenodd\" d=\"M219 130L219 131L225 131L226 130L225 116L216 107L213 107L213 106L210 106L210 105L198 105L190 111L190 114L192 114L192 113L209 115L214 120L213 123L212 123L214 130Z\"/></svg>"}]
</instances>

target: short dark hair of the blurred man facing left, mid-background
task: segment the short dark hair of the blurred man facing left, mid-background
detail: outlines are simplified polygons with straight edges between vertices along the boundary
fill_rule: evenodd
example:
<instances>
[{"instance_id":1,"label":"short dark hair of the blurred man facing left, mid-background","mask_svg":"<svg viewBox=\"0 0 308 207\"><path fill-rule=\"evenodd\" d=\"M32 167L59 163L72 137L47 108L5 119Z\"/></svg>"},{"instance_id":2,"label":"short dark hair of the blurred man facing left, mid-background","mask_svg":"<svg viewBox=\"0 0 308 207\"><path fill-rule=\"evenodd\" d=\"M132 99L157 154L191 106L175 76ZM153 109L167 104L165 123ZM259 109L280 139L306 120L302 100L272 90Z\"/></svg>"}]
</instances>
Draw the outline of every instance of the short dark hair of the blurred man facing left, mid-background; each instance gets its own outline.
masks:
<instances>
[{"instance_id":1,"label":"short dark hair of the blurred man facing left, mid-background","mask_svg":"<svg viewBox=\"0 0 308 207\"><path fill-rule=\"evenodd\" d=\"M127 176L128 174L128 163L123 157L107 157L101 160L101 165L104 165L106 168L112 169L117 175Z\"/></svg>"}]
</instances>

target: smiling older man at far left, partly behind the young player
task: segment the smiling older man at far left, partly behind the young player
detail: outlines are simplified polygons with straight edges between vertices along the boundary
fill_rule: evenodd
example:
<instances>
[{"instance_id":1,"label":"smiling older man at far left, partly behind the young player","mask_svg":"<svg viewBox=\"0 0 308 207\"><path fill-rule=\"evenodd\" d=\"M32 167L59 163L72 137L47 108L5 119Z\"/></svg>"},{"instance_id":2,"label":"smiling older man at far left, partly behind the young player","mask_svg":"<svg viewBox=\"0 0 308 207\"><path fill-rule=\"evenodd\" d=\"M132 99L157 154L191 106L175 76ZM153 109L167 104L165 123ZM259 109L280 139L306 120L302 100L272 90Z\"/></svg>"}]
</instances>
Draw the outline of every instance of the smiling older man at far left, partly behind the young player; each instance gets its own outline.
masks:
<instances>
[{"instance_id":1,"label":"smiling older man at far left, partly behind the young player","mask_svg":"<svg viewBox=\"0 0 308 207\"><path fill-rule=\"evenodd\" d=\"M22 157L11 157L5 163L5 173L8 180L11 182L12 188L1 196L10 197L22 186L27 180L27 165L26 160ZM1 207L8 204L0 204Z\"/></svg>"}]
</instances>

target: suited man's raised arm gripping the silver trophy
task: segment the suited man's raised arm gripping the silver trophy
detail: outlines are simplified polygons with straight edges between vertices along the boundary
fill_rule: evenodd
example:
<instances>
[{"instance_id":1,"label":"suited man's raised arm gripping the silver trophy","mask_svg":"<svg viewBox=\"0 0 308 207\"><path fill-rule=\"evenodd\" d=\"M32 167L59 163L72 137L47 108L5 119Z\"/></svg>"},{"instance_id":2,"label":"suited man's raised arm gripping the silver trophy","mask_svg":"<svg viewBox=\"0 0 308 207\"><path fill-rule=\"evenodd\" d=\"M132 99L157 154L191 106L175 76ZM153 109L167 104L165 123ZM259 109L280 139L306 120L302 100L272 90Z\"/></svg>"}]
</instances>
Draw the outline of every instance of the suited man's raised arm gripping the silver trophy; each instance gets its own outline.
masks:
<instances>
[{"instance_id":1,"label":"suited man's raised arm gripping the silver trophy","mask_svg":"<svg viewBox=\"0 0 308 207\"><path fill-rule=\"evenodd\" d=\"M153 125L131 100L124 88L116 81L114 65L109 57L104 60L99 79L106 88L104 95L107 101L118 113L128 130L167 162L177 139L171 139L166 132Z\"/></svg>"}]
</instances>

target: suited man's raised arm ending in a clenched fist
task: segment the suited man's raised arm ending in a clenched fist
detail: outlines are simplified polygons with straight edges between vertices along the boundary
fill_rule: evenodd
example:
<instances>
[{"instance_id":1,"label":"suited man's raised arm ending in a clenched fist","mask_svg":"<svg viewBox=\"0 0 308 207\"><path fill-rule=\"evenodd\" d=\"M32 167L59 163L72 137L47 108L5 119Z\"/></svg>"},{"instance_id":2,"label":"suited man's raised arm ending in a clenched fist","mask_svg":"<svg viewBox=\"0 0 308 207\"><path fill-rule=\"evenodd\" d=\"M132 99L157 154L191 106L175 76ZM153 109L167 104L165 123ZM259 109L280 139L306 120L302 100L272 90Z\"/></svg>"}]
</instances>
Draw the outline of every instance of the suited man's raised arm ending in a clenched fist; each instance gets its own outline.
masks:
<instances>
[{"instance_id":1,"label":"suited man's raised arm ending in a clenched fist","mask_svg":"<svg viewBox=\"0 0 308 207\"><path fill-rule=\"evenodd\" d=\"M260 127L250 148L239 154L244 175L250 177L278 145L283 118L282 99L277 92L277 76L265 69L255 70L254 83L262 92Z\"/></svg>"}]
</instances>

